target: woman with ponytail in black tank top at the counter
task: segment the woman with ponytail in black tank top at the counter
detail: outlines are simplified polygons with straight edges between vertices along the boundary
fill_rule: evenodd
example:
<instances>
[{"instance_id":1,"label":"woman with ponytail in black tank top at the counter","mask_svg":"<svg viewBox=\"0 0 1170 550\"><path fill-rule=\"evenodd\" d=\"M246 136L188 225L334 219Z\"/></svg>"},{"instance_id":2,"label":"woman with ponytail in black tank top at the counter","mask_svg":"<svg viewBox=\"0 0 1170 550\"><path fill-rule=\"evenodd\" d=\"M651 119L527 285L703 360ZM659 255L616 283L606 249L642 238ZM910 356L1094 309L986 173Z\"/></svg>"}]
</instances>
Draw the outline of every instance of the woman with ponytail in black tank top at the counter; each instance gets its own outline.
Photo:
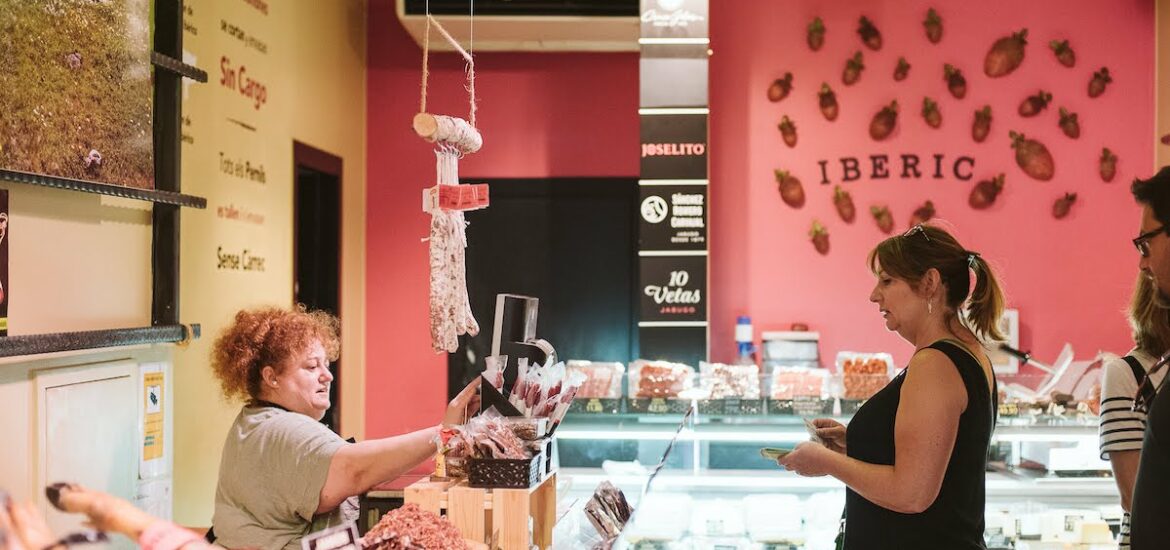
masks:
<instances>
[{"instance_id":1,"label":"woman with ponytail in black tank top at the counter","mask_svg":"<svg viewBox=\"0 0 1170 550\"><path fill-rule=\"evenodd\" d=\"M869 266L869 300L915 353L848 428L815 420L824 445L779 463L845 482L846 549L983 549L997 391L979 339L1003 339L1003 293L979 254L934 226L882 241Z\"/></svg>"}]
</instances>

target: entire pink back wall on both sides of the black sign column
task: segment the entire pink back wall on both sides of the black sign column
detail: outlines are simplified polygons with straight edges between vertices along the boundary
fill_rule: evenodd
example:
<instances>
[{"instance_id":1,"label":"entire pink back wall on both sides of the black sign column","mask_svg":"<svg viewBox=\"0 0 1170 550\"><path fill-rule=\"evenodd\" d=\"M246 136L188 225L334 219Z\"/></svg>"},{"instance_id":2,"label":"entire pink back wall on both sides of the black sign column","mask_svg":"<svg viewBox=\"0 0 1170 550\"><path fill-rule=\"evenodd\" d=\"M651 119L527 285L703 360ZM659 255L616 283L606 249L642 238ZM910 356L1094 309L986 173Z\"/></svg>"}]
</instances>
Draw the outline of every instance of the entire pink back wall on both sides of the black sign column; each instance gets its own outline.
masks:
<instances>
[{"instance_id":1,"label":"entire pink back wall on both sides of the black sign column","mask_svg":"<svg viewBox=\"0 0 1170 550\"><path fill-rule=\"evenodd\" d=\"M865 12L860 6L865 6ZM751 315L759 330L810 323L823 334L823 353L842 349L887 350L900 362L909 348L885 331L866 296L873 279L863 264L883 238L867 209L885 202L904 231L913 207L931 199L963 242L998 266L1012 307L1020 309L1023 346L1041 359L1072 342L1080 355L1123 351L1121 317L1136 256L1128 243L1137 221L1128 181L1152 169L1152 2L1059 1L948 2L947 34L938 46L922 35L928 4L907 2L717 2L711 48L711 349L728 359L735 316ZM885 34L881 51L865 50L867 69L852 88L840 84L846 56L859 49L856 18L867 14ZM828 26L825 48L811 54L804 27L814 15ZM427 326L427 218L420 190L433 180L429 147L410 130L418 105L420 50L401 29L393 2L370 5L369 235L367 235L367 436L387 435L434 422L442 408L446 369L431 351ZM983 54L998 36L1028 27L1023 67L992 81L982 74ZM1067 36L1078 67L1055 64L1047 41ZM894 84L897 55L914 68ZM470 177L572 177L638 174L638 57L634 54L481 54L480 126L486 146L462 164ZM965 99L947 95L942 64L957 64L969 81ZM1107 64L1115 82L1088 99L1092 70ZM449 54L432 57L433 110L462 114L462 66ZM764 91L791 70L796 90L773 104ZM833 83L841 116L825 122L815 106L821 81ZM1038 118L1016 115L1020 98L1038 88L1055 101ZM942 104L944 123L927 129L918 117L922 96ZM901 130L881 144L866 129L880 105L897 98ZM971 112L992 104L991 137L973 144ZM1057 129L1057 109L1080 114L1082 136L1069 140ZM783 114L799 128L789 150L775 125ZM1057 158L1057 178L1034 181L1013 163L1007 130L1045 142ZM1096 177L1102 145L1121 156L1113 184ZM858 206L853 225L831 204L832 185L819 185L819 159L840 156L944 153L976 158L975 180L998 172L1007 187L990 211L966 206L975 180L868 177L845 184ZM807 204L780 202L773 167L805 183ZM895 165L892 170L896 171ZM840 174L832 176L839 183ZM1048 214L1052 200L1074 191L1080 201L1061 221ZM807 241L815 218L832 234L832 252L817 255ZM1089 256L1092 254L1092 256ZM486 318L488 312L479 312Z\"/></svg>"}]
</instances>

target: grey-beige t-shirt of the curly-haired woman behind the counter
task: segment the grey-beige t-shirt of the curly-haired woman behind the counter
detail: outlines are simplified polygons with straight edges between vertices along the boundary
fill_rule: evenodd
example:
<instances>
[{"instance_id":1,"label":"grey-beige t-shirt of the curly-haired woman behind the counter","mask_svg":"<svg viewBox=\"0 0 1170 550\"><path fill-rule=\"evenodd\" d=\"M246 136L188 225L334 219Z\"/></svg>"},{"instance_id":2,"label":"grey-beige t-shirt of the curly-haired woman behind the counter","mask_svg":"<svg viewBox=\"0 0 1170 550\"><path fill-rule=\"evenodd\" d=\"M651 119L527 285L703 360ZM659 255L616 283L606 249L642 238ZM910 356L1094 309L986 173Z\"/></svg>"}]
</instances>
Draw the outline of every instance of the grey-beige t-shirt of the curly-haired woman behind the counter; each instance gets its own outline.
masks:
<instances>
[{"instance_id":1,"label":"grey-beige t-shirt of the curly-haired woman behind the counter","mask_svg":"<svg viewBox=\"0 0 1170 550\"><path fill-rule=\"evenodd\" d=\"M304 414L275 406L240 410L220 459L212 518L215 543L298 550L309 532L350 520L346 506L314 515L329 463L344 445Z\"/></svg>"}]
</instances>

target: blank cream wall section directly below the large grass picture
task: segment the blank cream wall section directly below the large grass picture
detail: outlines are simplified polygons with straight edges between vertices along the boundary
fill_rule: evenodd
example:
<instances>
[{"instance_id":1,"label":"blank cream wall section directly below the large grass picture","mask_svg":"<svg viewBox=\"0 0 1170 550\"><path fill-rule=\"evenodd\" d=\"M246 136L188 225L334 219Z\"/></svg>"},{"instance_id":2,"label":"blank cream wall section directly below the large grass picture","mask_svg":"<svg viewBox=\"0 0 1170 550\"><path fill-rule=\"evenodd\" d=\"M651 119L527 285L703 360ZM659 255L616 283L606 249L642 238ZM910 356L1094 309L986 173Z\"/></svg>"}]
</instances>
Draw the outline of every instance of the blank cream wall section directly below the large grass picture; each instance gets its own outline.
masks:
<instances>
[{"instance_id":1,"label":"blank cream wall section directly below the large grass picture","mask_svg":"<svg viewBox=\"0 0 1170 550\"><path fill-rule=\"evenodd\" d=\"M0 180L9 335L149 326L151 204Z\"/></svg>"}]
</instances>

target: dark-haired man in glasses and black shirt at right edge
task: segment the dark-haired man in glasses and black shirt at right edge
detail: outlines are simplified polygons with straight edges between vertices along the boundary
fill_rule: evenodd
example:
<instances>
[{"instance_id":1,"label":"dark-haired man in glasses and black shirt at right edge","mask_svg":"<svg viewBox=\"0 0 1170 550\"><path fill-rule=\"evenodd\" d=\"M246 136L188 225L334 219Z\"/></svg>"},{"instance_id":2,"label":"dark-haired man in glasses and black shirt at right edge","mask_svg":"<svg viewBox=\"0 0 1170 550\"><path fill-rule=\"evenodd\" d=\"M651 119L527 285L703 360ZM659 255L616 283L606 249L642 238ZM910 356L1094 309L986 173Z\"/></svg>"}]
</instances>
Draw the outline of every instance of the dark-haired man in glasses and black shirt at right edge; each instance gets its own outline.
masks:
<instances>
[{"instance_id":1,"label":"dark-haired man in glasses and black shirt at right edge","mask_svg":"<svg viewBox=\"0 0 1170 550\"><path fill-rule=\"evenodd\" d=\"M1135 180L1130 191L1142 207L1134 247L1138 268L1156 291L1155 303L1170 307L1170 166L1149 179ZM1159 376L1168 362L1163 356L1150 367L1147 380L1134 396L1134 411L1145 413L1142 455L1134 483L1129 542L1134 550L1166 548L1165 522L1170 517L1170 397L1161 391ZM1155 383L1157 377L1157 383ZM1147 386L1149 389L1147 389Z\"/></svg>"}]
</instances>

